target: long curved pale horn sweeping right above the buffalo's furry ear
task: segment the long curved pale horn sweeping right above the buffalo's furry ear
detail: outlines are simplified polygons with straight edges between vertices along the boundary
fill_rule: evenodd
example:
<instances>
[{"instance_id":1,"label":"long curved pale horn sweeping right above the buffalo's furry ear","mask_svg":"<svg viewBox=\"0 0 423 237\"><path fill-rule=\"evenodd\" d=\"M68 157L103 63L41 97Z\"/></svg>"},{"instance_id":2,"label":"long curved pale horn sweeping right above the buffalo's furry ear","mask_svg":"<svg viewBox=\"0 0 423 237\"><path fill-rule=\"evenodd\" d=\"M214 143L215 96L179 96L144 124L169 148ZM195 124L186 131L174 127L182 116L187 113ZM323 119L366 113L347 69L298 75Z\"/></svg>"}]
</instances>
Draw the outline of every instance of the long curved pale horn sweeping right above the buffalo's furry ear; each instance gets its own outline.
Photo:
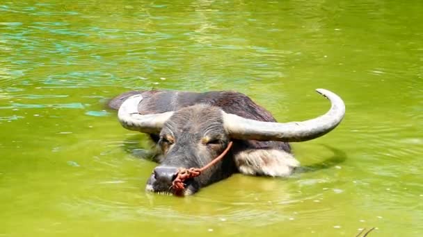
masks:
<instances>
[{"instance_id":1,"label":"long curved pale horn sweeping right above the buffalo's furry ear","mask_svg":"<svg viewBox=\"0 0 423 237\"><path fill-rule=\"evenodd\" d=\"M272 123L244 119L235 114L223 112L225 129L234 139L258 141L308 141L321 137L333 130L344 118L344 101L333 92L317 89L319 94L330 100L332 106L326 114L302 122Z\"/></svg>"}]
</instances>

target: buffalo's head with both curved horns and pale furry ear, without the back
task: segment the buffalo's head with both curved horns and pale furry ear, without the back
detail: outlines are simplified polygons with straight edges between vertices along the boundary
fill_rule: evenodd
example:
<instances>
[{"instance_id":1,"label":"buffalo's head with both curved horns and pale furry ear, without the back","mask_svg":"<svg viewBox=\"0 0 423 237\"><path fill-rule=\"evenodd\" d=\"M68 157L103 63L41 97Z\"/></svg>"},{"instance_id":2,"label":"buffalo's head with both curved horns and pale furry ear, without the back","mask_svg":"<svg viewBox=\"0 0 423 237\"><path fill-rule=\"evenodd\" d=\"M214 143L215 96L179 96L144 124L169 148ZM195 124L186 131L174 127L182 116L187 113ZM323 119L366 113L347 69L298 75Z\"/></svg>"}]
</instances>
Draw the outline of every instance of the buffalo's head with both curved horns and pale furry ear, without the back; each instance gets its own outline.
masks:
<instances>
[{"instance_id":1,"label":"buffalo's head with both curved horns and pale furry ear, without the back","mask_svg":"<svg viewBox=\"0 0 423 237\"><path fill-rule=\"evenodd\" d=\"M146 191L154 193L175 193L172 182L179 168L205 166L225 150L229 141L234 141L234 148L223 160L205 170L200 176L184 181L185 189L182 194L191 195L201 187L224 179L237 171L250 175L291 174L298 166L298 161L289 154L289 150L281 150L280 146L273 148L254 147L251 144L248 146L246 141L256 143L307 141L333 130L344 117L344 103L339 96L328 90L317 89L317 91L328 98L332 106L326 114L302 122L277 123L245 119L225 112L221 106L207 102L195 103L175 111L140 114L138 105L143 100L143 94L127 98L119 107L118 117L122 126L129 130L159 134L157 146L161 150L162 157L145 188ZM261 152L257 153L257 150ZM263 171L264 166L273 164L280 170L267 173Z\"/></svg>"}]
</instances>

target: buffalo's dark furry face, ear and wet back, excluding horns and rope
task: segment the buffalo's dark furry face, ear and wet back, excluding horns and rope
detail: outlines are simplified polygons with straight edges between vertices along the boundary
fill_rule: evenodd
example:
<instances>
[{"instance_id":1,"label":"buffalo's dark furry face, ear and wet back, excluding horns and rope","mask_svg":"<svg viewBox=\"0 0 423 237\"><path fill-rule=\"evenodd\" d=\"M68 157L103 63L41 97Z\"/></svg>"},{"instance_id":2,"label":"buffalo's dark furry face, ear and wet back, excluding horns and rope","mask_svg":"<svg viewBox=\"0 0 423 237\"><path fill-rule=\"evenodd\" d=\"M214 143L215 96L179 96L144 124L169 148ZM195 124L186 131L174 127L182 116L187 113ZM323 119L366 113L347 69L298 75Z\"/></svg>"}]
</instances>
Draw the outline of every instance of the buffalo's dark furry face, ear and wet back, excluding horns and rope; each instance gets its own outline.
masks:
<instances>
[{"instance_id":1,"label":"buffalo's dark furry face, ear and wet back, excluding horns and rope","mask_svg":"<svg viewBox=\"0 0 423 237\"><path fill-rule=\"evenodd\" d=\"M229 137L223 126L221 109L228 114L237 114L246 119L275 122L273 116L257 105L248 96L234 91L212 91L193 93L186 91L129 91L113 98L109 106L118 109L129 96L142 94L138 105L141 114L159 114L173 111L160 134L150 134L161 148L155 157L160 164L147 181L146 190L162 192L171 190L173 174L169 168L203 167L217 157L228 146ZM175 142L173 142L175 141ZM210 142L213 141L213 142ZM195 193L202 186L225 179L240 171L248 175L287 175L288 168L294 167L286 152L291 152L288 143L280 141L232 140L234 145L223 159L202 175L186 183L186 190ZM269 151L266 151L269 150ZM269 153L274 150L279 154ZM282 152L284 150L285 152ZM260 152L259 152L260 151ZM286 161L285 161L286 160ZM285 162L280 164L280 162ZM274 167L274 168L270 168ZM270 168L270 171L269 171ZM165 173L159 175L159 171ZM266 170L266 171L265 171ZM275 170L278 172L275 173ZM284 171L285 170L285 171ZM177 171L175 171L177 172ZM289 172L290 173L290 172ZM164 175L163 175L164 174ZM167 178L163 178L167 177Z\"/></svg>"}]
</instances>

